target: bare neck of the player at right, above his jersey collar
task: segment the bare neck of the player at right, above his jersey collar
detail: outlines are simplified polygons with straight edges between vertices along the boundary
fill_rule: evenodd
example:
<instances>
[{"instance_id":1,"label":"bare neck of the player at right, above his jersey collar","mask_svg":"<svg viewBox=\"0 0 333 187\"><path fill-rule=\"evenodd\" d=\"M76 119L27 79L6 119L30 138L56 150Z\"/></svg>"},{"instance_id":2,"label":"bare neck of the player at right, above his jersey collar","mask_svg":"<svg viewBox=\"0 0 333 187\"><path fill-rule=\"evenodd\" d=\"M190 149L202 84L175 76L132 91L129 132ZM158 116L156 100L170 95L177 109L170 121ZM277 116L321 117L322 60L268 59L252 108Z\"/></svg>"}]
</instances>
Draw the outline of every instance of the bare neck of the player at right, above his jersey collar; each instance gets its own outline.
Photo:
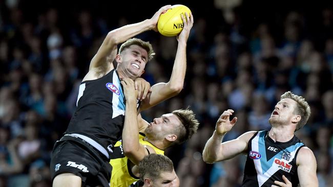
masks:
<instances>
[{"instance_id":1,"label":"bare neck of the player at right, above his jersey collar","mask_svg":"<svg viewBox=\"0 0 333 187\"><path fill-rule=\"evenodd\" d=\"M268 136L275 142L288 142L294 137L294 131L287 126L272 127L268 132Z\"/></svg>"}]
</instances>

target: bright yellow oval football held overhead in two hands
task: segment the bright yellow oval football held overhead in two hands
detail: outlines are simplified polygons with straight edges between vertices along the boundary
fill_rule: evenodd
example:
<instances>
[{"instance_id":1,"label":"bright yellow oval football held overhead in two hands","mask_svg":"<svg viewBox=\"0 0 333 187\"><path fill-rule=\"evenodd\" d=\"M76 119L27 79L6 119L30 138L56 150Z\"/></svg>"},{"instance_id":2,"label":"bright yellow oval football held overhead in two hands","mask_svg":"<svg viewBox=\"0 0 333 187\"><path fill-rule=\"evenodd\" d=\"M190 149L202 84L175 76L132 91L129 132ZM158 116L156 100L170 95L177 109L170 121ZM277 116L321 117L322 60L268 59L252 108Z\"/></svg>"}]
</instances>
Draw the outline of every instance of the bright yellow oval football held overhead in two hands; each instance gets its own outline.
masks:
<instances>
[{"instance_id":1,"label":"bright yellow oval football held overhead in two hands","mask_svg":"<svg viewBox=\"0 0 333 187\"><path fill-rule=\"evenodd\" d=\"M181 19L181 14L183 14L186 19L185 12L190 15L191 10L184 5L174 5L171 9L163 12L157 22L158 32L163 36L176 36L178 35L184 27L183 20Z\"/></svg>"}]
</instances>

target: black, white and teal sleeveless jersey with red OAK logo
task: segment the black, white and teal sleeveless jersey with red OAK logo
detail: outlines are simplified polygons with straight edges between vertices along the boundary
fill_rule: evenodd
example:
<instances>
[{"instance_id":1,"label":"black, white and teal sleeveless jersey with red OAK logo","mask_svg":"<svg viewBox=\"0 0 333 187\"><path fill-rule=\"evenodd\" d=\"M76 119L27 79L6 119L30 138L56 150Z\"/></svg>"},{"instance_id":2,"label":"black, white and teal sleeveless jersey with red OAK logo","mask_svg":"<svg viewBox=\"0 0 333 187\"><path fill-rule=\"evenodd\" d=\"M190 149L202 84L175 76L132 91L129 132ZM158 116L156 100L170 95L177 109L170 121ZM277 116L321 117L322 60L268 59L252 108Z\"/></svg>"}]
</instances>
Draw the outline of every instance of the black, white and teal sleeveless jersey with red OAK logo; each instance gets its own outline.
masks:
<instances>
[{"instance_id":1,"label":"black, white and teal sleeveless jersey with red OAK logo","mask_svg":"<svg viewBox=\"0 0 333 187\"><path fill-rule=\"evenodd\" d=\"M274 142L268 131L257 132L248 142L248 153L242 186L271 186L275 180L284 182L282 175L299 184L296 158L305 146L294 135L288 142Z\"/></svg>"}]
</instances>

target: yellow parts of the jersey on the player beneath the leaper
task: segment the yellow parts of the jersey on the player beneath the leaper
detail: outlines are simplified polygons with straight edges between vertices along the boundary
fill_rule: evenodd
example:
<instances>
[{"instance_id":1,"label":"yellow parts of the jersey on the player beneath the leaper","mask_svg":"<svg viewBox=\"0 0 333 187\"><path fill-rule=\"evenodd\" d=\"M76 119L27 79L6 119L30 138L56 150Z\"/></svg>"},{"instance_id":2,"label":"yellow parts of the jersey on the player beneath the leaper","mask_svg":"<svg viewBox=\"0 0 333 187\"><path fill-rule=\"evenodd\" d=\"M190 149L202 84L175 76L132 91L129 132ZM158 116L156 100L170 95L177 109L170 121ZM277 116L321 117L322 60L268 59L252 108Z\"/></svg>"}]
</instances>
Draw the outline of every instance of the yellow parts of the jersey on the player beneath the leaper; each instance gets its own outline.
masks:
<instances>
[{"instance_id":1,"label":"yellow parts of the jersey on the player beneath the leaper","mask_svg":"<svg viewBox=\"0 0 333 187\"><path fill-rule=\"evenodd\" d=\"M139 133L140 144L148 145L155 150L156 154L164 155L163 150L160 150L157 147L155 147L154 145L152 145L151 143L144 141L143 140L144 137L145 137L145 134ZM112 158L110 160L110 164L112 166L112 175L111 175L111 180L110 180L110 186L111 187L129 186L133 182L139 180L139 178L133 175L131 168L128 168L129 167L128 162L130 162L130 160L126 156L123 155L121 140L115 144L114 148L116 149L116 147L120 147L121 154L119 156L117 156L117 158Z\"/></svg>"}]
</instances>

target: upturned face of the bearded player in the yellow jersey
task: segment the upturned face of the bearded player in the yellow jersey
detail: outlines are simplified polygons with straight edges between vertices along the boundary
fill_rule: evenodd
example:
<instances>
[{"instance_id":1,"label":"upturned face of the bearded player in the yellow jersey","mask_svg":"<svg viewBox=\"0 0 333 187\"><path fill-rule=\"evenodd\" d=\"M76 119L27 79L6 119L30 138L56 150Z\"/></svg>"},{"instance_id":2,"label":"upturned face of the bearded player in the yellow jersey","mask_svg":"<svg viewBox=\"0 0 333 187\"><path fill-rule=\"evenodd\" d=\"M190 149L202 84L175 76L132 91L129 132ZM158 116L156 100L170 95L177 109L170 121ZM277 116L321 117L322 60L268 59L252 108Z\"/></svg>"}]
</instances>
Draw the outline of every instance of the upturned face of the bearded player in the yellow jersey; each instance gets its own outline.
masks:
<instances>
[{"instance_id":1,"label":"upturned face of the bearded player in the yellow jersey","mask_svg":"<svg viewBox=\"0 0 333 187\"><path fill-rule=\"evenodd\" d=\"M178 117L173 113L163 114L160 118L155 118L145 129L146 134L154 134L156 138L163 138L165 134L170 134L181 124Z\"/></svg>"}]
</instances>

